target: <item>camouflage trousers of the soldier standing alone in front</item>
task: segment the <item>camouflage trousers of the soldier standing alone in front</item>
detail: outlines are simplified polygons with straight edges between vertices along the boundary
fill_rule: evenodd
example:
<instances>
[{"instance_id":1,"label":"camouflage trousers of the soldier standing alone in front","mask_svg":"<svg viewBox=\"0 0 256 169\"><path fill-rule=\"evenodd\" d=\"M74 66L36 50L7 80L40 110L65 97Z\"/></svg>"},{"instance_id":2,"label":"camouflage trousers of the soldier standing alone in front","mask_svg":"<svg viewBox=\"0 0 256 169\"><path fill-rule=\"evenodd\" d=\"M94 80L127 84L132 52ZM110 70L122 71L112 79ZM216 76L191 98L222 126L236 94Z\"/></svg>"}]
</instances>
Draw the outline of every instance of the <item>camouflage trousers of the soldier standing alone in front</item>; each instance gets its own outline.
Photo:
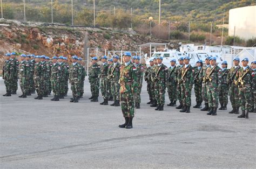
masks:
<instances>
[{"instance_id":1,"label":"camouflage trousers of the soldier standing alone in front","mask_svg":"<svg viewBox=\"0 0 256 169\"><path fill-rule=\"evenodd\" d=\"M132 93L121 93L121 109L124 117L134 117L134 102Z\"/></svg>"}]
</instances>

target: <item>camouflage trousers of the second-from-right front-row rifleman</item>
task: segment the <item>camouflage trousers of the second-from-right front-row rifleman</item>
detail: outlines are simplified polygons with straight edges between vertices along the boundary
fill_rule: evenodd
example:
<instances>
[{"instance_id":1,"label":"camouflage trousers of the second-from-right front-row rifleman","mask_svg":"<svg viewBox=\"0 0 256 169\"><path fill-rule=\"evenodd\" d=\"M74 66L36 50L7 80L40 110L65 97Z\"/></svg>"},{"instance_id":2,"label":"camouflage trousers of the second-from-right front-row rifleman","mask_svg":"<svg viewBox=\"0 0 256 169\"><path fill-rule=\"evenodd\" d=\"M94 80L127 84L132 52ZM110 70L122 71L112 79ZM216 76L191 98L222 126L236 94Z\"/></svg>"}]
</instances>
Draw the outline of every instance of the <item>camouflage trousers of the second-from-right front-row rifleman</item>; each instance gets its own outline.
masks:
<instances>
[{"instance_id":1,"label":"camouflage trousers of the second-from-right front-row rifleman","mask_svg":"<svg viewBox=\"0 0 256 169\"><path fill-rule=\"evenodd\" d=\"M217 87L210 87L207 85L207 97L209 107L218 107L219 105L219 93L217 91Z\"/></svg>"}]
</instances>

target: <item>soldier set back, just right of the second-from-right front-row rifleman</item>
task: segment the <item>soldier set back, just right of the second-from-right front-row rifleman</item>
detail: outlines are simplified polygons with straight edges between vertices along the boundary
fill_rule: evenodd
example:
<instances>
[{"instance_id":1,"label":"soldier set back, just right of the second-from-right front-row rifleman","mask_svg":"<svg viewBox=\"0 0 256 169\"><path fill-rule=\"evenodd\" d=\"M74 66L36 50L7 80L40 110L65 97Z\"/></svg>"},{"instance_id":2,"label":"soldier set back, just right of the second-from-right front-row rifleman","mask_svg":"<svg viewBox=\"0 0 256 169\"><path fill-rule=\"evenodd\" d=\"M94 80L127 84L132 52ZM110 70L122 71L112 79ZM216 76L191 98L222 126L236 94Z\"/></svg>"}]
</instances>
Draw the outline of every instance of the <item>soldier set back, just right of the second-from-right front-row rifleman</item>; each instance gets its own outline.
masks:
<instances>
[{"instance_id":1,"label":"soldier set back, just right of the second-from-right front-row rifleman","mask_svg":"<svg viewBox=\"0 0 256 169\"><path fill-rule=\"evenodd\" d=\"M221 78L223 79L221 83L221 89L219 91L219 102L220 108L219 110L227 110L227 103L228 103L228 85L227 85L227 74L230 69L227 69L227 61L224 60L221 64Z\"/></svg>"}]
</instances>

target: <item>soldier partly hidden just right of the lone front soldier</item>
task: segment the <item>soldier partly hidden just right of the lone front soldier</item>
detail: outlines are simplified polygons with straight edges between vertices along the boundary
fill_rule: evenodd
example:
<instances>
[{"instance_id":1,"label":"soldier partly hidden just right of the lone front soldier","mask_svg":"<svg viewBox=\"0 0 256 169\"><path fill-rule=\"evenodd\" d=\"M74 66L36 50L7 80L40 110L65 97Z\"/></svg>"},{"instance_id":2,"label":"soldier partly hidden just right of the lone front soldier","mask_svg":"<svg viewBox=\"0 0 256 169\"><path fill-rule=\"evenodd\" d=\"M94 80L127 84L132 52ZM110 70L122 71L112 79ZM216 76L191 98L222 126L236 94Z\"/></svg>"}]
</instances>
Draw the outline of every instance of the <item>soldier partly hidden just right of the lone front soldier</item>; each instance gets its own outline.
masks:
<instances>
[{"instance_id":1,"label":"soldier partly hidden just right of the lone front soldier","mask_svg":"<svg viewBox=\"0 0 256 169\"><path fill-rule=\"evenodd\" d=\"M142 93L142 82L143 82L143 74L144 74L144 65L140 64L140 57L135 57L134 66L137 68L137 83L138 89L135 94L135 108L140 109L140 93Z\"/></svg>"}]
</instances>

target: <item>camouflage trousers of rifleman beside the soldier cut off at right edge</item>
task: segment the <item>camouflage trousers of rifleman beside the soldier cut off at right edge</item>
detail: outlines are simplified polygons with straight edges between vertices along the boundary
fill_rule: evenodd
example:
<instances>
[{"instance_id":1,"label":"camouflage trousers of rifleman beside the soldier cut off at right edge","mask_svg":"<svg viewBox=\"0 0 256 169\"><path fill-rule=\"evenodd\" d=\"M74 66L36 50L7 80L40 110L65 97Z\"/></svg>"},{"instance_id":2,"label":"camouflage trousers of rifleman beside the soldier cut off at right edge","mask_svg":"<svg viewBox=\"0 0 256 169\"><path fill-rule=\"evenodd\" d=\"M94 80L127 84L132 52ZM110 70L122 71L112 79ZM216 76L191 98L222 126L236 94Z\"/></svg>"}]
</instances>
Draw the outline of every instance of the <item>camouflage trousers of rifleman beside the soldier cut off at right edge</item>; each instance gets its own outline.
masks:
<instances>
[{"instance_id":1,"label":"camouflage trousers of rifleman beside the soldier cut off at right edge","mask_svg":"<svg viewBox=\"0 0 256 169\"><path fill-rule=\"evenodd\" d=\"M251 85L244 85L239 87L239 103L241 110L251 110Z\"/></svg>"}]
</instances>

